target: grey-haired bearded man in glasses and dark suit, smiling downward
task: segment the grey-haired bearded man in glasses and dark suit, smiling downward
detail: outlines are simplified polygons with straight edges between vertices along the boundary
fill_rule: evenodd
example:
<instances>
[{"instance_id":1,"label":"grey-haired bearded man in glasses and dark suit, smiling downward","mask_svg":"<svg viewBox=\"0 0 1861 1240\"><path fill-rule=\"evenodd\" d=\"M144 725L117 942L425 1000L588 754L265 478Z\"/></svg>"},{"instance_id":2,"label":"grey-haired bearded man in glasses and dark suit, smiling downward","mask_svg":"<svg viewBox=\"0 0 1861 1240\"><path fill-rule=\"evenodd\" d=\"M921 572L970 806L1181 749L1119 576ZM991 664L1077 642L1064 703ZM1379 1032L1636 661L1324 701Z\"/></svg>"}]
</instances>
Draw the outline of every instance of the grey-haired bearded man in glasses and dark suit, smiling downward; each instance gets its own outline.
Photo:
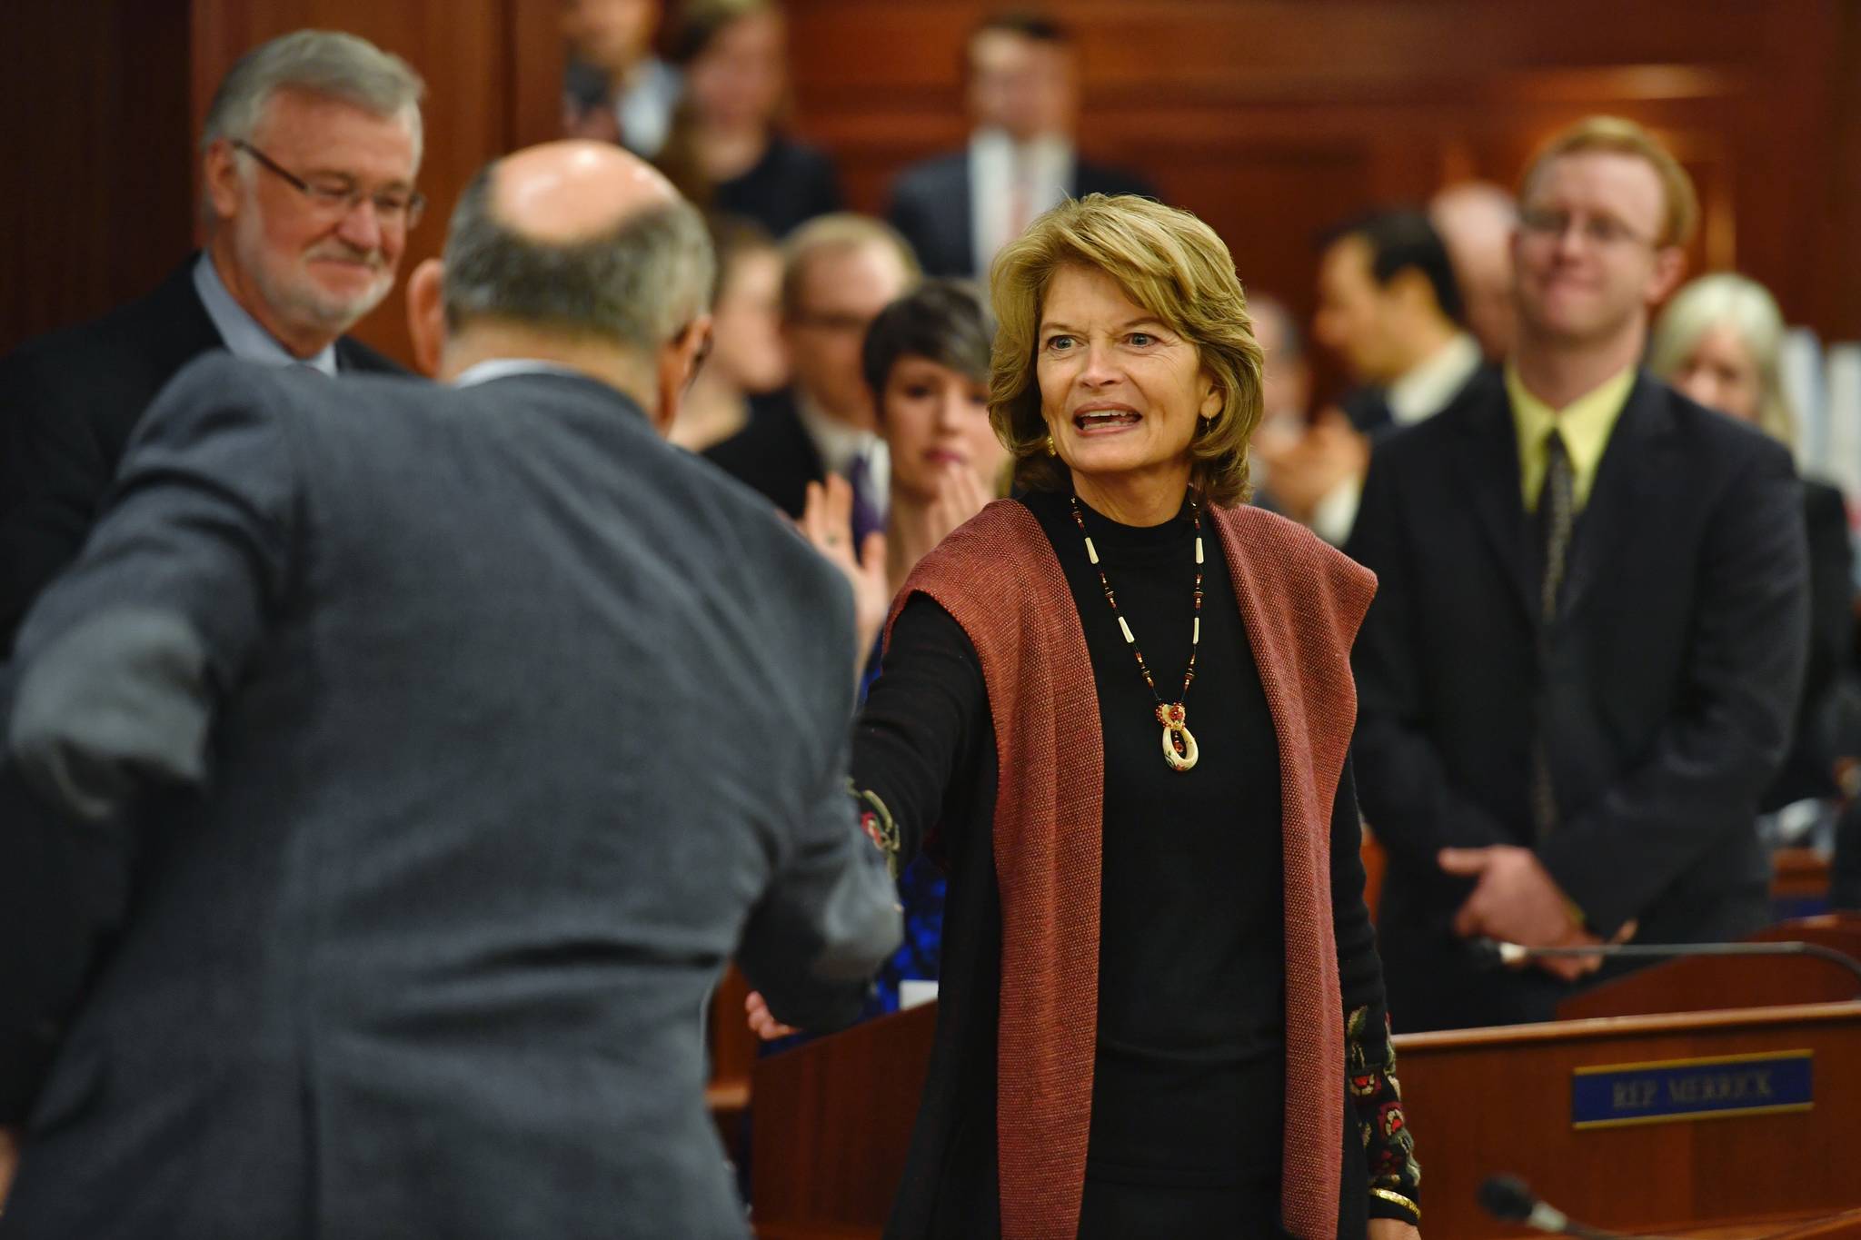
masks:
<instances>
[{"instance_id":1,"label":"grey-haired bearded man in glasses and dark suit, smiling downward","mask_svg":"<svg viewBox=\"0 0 1861 1240\"><path fill-rule=\"evenodd\" d=\"M201 130L207 249L154 292L0 361L0 654L84 545L143 409L208 350L324 374L398 370L344 336L419 219L424 86L355 35L248 52Z\"/></svg>"}]
</instances>

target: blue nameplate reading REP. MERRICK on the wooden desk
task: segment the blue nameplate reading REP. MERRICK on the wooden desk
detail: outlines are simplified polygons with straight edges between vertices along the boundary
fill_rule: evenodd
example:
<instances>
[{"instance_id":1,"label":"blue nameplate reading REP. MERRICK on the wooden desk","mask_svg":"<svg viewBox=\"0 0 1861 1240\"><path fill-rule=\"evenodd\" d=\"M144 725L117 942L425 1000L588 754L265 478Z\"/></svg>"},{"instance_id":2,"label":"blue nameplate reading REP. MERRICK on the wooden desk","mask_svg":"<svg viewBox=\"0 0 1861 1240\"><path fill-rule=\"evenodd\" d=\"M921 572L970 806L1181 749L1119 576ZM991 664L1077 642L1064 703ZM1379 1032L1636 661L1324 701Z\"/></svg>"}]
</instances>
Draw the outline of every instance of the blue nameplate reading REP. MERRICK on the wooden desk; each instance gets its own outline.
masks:
<instances>
[{"instance_id":1,"label":"blue nameplate reading REP. MERRICK on the wooden desk","mask_svg":"<svg viewBox=\"0 0 1861 1240\"><path fill-rule=\"evenodd\" d=\"M1571 1073L1571 1125L1619 1128L1807 1112L1814 1101L1813 1058L1811 1050L1775 1050L1578 1067Z\"/></svg>"}]
</instances>

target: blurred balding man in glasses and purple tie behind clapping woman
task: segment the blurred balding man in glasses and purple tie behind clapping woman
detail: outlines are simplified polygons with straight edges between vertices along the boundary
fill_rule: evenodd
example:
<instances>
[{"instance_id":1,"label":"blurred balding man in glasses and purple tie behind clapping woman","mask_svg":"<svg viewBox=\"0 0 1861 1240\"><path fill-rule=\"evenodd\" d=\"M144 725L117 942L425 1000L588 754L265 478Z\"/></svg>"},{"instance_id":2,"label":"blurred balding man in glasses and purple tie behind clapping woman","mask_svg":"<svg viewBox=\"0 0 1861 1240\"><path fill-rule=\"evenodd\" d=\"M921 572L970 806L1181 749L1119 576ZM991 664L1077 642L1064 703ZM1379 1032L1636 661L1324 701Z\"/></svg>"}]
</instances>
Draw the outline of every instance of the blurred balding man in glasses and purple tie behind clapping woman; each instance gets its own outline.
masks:
<instances>
[{"instance_id":1,"label":"blurred balding man in glasses and purple tie behind clapping woman","mask_svg":"<svg viewBox=\"0 0 1861 1240\"><path fill-rule=\"evenodd\" d=\"M860 368L865 329L917 284L904 240L878 219L810 219L783 245L782 340L791 383L750 402L750 424L705 457L800 517L810 481L847 478L854 537L884 528L891 457Z\"/></svg>"}]
</instances>

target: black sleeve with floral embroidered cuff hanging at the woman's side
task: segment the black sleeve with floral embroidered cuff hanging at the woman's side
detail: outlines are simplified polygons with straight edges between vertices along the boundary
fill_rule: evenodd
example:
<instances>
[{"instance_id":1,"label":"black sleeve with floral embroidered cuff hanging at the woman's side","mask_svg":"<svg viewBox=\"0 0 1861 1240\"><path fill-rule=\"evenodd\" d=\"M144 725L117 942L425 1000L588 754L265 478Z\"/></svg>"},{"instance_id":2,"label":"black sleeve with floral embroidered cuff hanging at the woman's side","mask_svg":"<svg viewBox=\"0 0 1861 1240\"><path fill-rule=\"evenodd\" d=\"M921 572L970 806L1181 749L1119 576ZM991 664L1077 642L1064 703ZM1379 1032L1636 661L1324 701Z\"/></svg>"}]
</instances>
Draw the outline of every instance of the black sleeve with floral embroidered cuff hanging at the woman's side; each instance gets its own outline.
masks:
<instances>
[{"instance_id":1,"label":"black sleeve with floral embroidered cuff hanging at the woman's side","mask_svg":"<svg viewBox=\"0 0 1861 1240\"><path fill-rule=\"evenodd\" d=\"M1362 820L1346 764L1331 820L1331 915L1338 939L1338 985L1344 991L1346 1089L1364 1141L1370 1218L1422 1221L1422 1167L1401 1110L1396 1049L1383 998L1383 961L1364 905Z\"/></svg>"}]
</instances>

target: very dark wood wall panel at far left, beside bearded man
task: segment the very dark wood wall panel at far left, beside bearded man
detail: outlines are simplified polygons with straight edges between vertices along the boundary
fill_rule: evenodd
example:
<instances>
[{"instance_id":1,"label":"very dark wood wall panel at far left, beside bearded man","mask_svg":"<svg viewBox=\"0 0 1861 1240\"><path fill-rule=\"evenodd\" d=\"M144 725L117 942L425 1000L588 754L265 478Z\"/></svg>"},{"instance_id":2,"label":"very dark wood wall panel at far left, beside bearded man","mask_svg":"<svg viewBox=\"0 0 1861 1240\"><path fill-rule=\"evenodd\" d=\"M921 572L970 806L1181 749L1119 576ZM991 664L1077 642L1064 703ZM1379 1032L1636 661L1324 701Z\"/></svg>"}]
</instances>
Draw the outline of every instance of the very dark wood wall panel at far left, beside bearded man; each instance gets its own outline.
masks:
<instances>
[{"instance_id":1,"label":"very dark wood wall panel at far left, beside bearded man","mask_svg":"<svg viewBox=\"0 0 1861 1240\"><path fill-rule=\"evenodd\" d=\"M0 353L147 292L186 253L188 2L0 17Z\"/></svg>"}]
</instances>

